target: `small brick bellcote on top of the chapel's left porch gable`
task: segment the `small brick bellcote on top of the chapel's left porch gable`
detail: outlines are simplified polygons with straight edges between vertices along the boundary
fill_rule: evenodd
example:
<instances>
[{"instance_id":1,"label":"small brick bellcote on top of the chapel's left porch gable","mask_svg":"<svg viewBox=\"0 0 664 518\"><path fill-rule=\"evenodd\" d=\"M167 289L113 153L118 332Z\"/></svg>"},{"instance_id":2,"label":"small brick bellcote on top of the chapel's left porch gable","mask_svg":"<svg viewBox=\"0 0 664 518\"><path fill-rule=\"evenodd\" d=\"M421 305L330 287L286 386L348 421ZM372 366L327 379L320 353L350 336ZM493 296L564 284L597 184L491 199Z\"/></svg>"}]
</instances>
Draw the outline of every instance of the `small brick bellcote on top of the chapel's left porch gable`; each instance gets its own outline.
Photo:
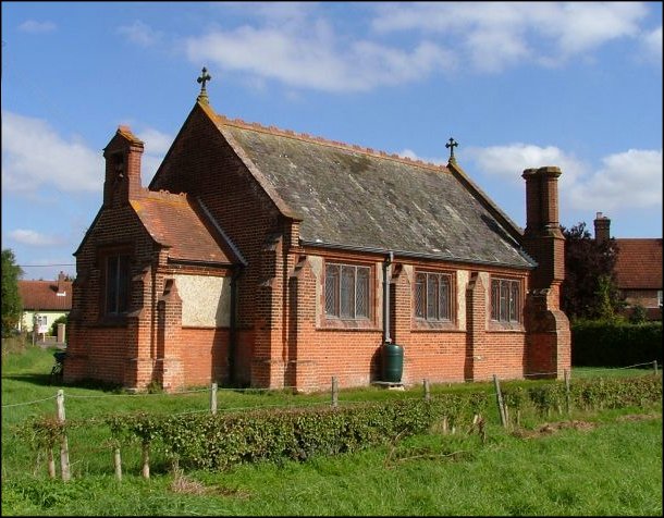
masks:
<instances>
[{"instance_id":1,"label":"small brick bellcote on top of the chapel's left porch gable","mask_svg":"<svg viewBox=\"0 0 664 518\"><path fill-rule=\"evenodd\" d=\"M144 145L128 126L119 126L111 141L103 148L106 180L103 205L126 205L142 190L140 157Z\"/></svg>"}]
</instances>

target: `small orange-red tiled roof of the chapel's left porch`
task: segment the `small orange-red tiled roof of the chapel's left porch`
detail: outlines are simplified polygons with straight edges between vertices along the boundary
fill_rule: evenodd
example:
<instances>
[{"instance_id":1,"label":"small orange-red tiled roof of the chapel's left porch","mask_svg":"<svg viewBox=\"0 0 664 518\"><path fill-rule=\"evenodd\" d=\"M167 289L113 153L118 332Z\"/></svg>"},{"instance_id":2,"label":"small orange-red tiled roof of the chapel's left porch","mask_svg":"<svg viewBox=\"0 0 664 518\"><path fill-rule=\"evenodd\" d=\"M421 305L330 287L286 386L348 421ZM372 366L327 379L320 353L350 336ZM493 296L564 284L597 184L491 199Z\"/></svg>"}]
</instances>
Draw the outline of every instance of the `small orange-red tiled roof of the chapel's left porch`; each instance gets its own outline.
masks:
<instances>
[{"instance_id":1,"label":"small orange-red tiled roof of the chapel's left porch","mask_svg":"<svg viewBox=\"0 0 664 518\"><path fill-rule=\"evenodd\" d=\"M225 264L233 262L233 252L223 244L223 237L198 203L187 196L144 190L131 203L152 238L160 245L170 247L171 259Z\"/></svg>"}]
</instances>

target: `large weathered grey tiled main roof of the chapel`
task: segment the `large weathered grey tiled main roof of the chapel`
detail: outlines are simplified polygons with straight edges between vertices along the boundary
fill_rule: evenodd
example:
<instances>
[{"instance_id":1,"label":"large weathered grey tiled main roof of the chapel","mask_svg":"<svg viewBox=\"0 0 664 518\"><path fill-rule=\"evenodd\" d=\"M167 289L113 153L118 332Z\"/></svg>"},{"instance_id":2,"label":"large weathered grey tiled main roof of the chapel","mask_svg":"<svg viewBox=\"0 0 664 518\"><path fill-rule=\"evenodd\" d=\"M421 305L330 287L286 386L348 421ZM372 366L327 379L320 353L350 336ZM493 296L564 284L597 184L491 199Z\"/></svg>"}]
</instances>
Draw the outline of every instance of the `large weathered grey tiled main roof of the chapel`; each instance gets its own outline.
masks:
<instances>
[{"instance_id":1,"label":"large weathered grey tiled main roof of the chapel","mask_svg":"<svg viewBox=\"0 0 664 518\"><path fill-rule=\"evenodd\" d=\"M280 209L303 220L305 244L533 266L513 237L516 225L446 166L222 116L216 123Z\"/></svg>"}]
</instances>

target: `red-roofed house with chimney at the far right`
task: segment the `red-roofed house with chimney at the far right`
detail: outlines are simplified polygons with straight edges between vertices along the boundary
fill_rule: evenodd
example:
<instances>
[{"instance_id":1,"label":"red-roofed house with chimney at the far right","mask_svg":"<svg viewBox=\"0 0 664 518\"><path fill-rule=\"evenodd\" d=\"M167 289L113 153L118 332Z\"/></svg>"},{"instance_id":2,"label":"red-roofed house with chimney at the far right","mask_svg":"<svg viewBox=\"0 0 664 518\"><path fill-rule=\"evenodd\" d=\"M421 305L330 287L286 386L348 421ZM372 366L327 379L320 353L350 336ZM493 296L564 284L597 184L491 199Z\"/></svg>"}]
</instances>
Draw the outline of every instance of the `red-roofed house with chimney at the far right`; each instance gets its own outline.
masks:
<instances>
[{"instance_id":1,"label":"red-roofed house with chimney at the far right","mask_svg":"<svg viewBox=\"0 0 664 518\"><path fill-rule=\"evenodd\" d=\"M611 238L611 220L602 212L594 220L599 243ZM617 287L627 303L626 314L635 306L645 308L649 320L662 318L662 238L615 238Z\"/></svg>"}]
</instances>

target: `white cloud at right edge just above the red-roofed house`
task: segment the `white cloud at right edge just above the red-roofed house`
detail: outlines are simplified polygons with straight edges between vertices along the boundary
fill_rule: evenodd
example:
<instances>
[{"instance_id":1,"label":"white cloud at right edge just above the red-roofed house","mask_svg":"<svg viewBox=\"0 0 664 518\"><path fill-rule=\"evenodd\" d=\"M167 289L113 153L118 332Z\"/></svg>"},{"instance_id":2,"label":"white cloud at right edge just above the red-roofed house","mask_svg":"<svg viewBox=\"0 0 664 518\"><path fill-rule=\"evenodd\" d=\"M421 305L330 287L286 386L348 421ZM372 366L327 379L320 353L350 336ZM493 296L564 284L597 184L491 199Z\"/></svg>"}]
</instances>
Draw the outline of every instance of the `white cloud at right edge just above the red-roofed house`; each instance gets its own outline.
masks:
<instances>
[{"instance_id":1,"label":"white cloud at right edge just above the red-roofed house","mask_svg":"<svg viewBox=\"0 0 664 518\"><path fill-rule=\"evenodd\" d=\"M602 160L603 166L569 193L573 207L602 210L662 209L662 151L629 149Z\"/></svg>"}]
</instances>

